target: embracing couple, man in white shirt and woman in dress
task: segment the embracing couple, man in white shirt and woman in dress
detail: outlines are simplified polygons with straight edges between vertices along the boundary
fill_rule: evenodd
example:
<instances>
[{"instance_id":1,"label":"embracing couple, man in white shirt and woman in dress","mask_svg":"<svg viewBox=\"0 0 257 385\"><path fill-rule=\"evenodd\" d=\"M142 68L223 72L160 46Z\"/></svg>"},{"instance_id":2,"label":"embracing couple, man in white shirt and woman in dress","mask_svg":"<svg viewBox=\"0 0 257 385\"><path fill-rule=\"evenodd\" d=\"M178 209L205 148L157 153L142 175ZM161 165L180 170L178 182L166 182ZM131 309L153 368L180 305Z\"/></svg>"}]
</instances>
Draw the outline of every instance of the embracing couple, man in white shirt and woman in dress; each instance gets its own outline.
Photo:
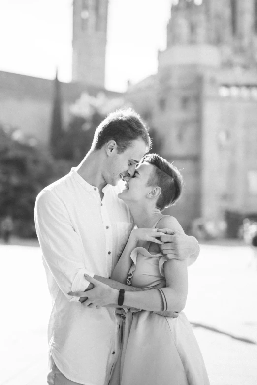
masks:
<instances>
[{"instance_id":1,"label":"embracing couple, man in white shirt and woman in dress","mask_svg":"<svg viewBox=\"0 0 257 385\"><path fill-rule=\"evenodd\" d=\"M161 213L182 176L150 147L138 114L111 113L79 166L37 196L49 385L209 384L182 311L199 246Z\"/></svg>"}]
</instances>

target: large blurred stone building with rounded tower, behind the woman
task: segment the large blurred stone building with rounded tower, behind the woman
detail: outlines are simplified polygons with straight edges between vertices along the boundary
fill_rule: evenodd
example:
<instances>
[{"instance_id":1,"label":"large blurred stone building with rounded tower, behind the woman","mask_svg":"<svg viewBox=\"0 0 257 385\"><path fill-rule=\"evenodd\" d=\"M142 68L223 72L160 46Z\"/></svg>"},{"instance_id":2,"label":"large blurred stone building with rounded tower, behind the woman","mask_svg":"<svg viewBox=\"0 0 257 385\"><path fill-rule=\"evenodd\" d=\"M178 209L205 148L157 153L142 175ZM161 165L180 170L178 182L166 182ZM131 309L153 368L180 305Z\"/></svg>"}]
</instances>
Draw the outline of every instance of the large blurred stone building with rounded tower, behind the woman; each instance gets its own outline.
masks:
<instances>
[{"instance_id":1,"label":"large blurred stone building with rounded tower, behind the woman","mask_svg":"<svg viewBox=\"0 0 257 385\"><path fill-rule=\"evenodd\" d=\"M182 170L185 228L257 212L257 2L174 0L158 73L127 98Z\"/></svg>"}]
</instances>

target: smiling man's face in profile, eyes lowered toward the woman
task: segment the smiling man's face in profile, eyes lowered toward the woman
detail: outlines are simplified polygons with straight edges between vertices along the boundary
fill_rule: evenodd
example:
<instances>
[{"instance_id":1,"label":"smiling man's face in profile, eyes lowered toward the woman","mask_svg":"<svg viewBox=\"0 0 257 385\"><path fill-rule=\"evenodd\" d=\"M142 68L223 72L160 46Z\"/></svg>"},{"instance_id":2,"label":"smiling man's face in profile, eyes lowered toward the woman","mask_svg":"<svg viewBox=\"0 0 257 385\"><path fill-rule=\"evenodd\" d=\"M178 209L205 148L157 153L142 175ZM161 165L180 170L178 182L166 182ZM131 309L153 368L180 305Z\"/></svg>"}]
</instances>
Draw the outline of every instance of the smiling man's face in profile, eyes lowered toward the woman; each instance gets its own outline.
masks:
<instances>
[{"instance_id":1,"label":"smiling man's face in profile, eyes lowered toward the woman","mask_svg":"<svg viewBox=\"0 0 257 385\"><path fill-rule=\"evenodd\" d=\"M114 149L108 159L108 180L106 182L115 186L122 177L133 176L136 165L147 151L148 148L142 139L134 140L132 145L121 154Z\"/></svg>"}]
</instances>

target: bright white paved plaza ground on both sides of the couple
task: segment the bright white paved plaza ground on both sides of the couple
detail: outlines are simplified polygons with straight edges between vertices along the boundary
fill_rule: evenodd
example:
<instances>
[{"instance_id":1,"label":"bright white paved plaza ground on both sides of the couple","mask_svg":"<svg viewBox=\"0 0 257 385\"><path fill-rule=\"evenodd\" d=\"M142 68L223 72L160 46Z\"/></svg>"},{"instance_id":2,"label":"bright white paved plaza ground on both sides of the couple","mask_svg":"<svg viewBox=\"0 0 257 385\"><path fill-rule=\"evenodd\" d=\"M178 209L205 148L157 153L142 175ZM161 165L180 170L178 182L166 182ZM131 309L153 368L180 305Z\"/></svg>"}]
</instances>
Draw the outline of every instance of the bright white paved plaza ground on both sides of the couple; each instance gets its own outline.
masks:
<instances>
[{"instance_id":1,"label":"bright white paved plaza ground on both sides of the couple","mask_svg":"<svg viewBox=\"0 0 257 385\"><path fill-rule=\"evenodd\" d=\"M239 243L201 245L185 313L211 385L257 384L257 270ZM0 385L45 385L51 310L36 241L0 244ZM158 385L158 384L157 384Z\"/></svg>"}]
</instances>

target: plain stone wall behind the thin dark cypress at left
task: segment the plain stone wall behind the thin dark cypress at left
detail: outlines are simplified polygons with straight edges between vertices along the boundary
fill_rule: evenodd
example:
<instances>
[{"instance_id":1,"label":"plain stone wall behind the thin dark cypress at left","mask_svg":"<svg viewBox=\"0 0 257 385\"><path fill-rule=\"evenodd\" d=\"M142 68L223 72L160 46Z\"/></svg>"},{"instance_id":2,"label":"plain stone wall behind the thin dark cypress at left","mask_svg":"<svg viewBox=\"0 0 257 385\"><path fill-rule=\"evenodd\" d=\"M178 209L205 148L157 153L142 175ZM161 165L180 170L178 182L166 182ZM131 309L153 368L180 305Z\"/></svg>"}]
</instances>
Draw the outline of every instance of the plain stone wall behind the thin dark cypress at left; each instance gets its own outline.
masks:
<instances>
[{"instance_id":1,"label":"plain stone wall behind the thin dark cypress at left","mask_svg":"<svg viewBox=\"0 0 257 385\"><path fill-rule=\"evenodd\" d=\"M0 124L13 126L24 135L34 137L41 145L47 145L50 137L54 81L32 76L0 71ZM83 92L97 96L104 92L110 98L120 93L104 90L83 83L61 83L61 108L63 128L69 121L70 105Z\"/></svg>"}]
</instances>

